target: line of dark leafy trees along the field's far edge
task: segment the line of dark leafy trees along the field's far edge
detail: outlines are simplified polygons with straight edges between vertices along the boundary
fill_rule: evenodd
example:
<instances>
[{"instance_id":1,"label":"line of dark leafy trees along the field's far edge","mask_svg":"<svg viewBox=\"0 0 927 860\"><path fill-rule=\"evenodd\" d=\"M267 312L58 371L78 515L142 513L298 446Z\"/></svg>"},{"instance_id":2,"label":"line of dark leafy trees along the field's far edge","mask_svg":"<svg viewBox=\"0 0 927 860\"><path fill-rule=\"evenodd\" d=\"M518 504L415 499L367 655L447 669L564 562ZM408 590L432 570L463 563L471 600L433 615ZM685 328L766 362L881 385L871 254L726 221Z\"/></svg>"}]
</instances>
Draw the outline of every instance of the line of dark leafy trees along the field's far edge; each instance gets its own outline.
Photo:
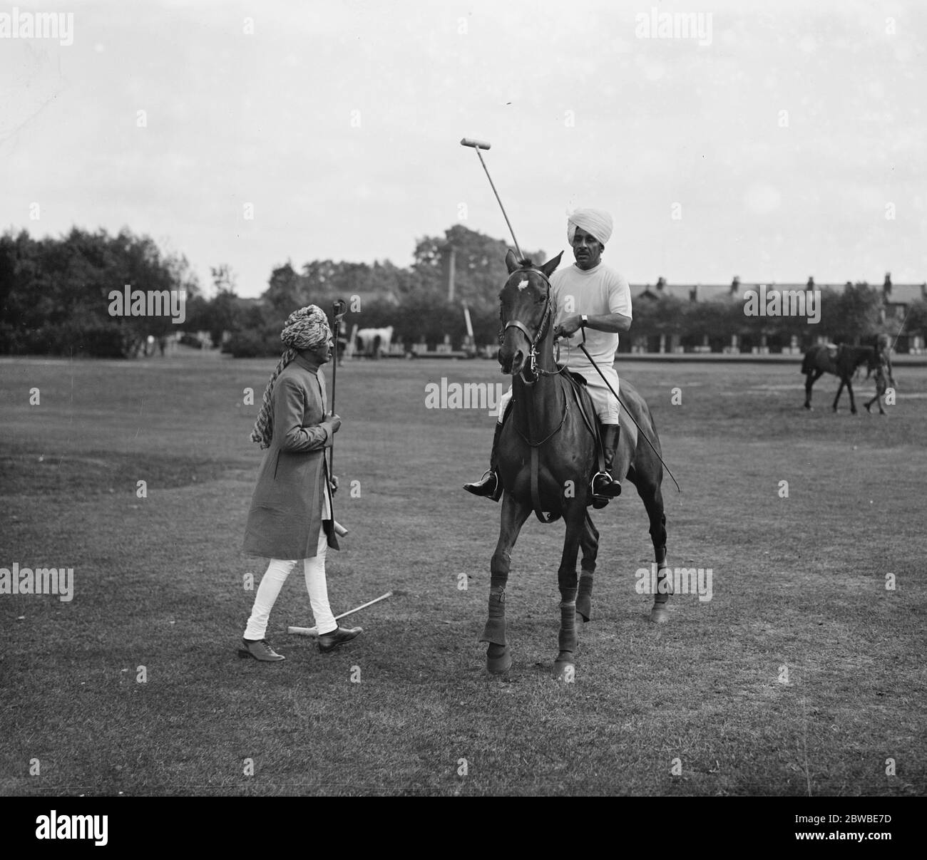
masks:
<instances>
[{"instance_id":1,"label":"line of dark leafy trees along the field's far edge","mask_svg":"<svg viewBox=\"0 0 927 860\"><path fill-rule=\"evenodd\" d=\"M331 312L337 298L352 303L348 328L392 325L394 342L407 348L423 341L435 348L446 336L460 348L465 304L476 344L493 345L506 250L502 240L455 224L443 236L419 239L408 268L388 260L368 265L325 259L296 270L287 261L271 272L258 299L248 299L237 295L235 273L227 265L210 270L208 297L182 255L165 253L150 237L128 230L113 236L74 228L44 239L8 231L0 236L0 353L125 357L138 354L149 336L162 339L180 330L209 332L213 346L235 356L273 356L281 350L280 330L292 310L317 304ZM542 251L527 256L537 263L545 259ZM123 285L143 292L184 290L184 322L114 316L110 295ZM714 351L730 346L733 337L774 349L793 338L807 346L817 336L860 342L897 334L897 322L885 319L883 309L881 291L865 283L822 290L817 324L805 317L748 317L741 301L638 297L622 349L660 337L667 345ZM927 333L927 303L910 307L905 332Z\"/></svg>"}]
</instances>

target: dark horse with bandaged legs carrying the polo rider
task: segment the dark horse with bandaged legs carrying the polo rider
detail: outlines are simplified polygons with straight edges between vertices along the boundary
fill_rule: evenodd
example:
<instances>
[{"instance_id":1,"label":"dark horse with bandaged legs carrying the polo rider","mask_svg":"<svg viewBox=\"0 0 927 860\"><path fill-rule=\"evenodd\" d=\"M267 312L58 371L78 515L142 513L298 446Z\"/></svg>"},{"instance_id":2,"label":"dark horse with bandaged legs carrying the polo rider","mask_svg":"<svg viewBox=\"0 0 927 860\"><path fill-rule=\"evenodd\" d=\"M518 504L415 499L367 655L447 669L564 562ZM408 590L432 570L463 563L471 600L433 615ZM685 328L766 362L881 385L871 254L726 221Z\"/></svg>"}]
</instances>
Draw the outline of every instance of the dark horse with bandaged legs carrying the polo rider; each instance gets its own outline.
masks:
<instances>
[{"instance_id":1,"label":"dark horse with bandaged legs carrying the polo rider","mask_svg":"<svg viewBox=\"0 0 927 860\"><path fill-rule=\"evenodd\" d=\"M557 571L561 602L554 674L571 681L578 644L576 615L578 612L584 621L590 618L592 574L599 547L599 532L587 512L592 503L590 478L598 462L596 432L592 429L598 418L585 386L574 382L565 369L557 366L553 356L555 309L548 278L562 256L563 252L540 267L528 259L519 262L511 250L505 257L509 277L499 296L503 324L499 363L502 373L512 376L513 398L497 450L504 495L499 542L489 566L489 617L480 641L489 643L489 672L498 675L511 668L505 630L505 586L512 549L532 510L542 523L562 517L566 535ZM663 464L642 435L648 434L657 450L660 442L653 416L641 395L624 381L620 395L623 408L614 472L627 475L647 510L657 563L650 620L665 623L672 578L667 577ZM628 411L641 426L640 433ZM580 549L582 575L577 579Z\"/></svg>"}]
</instances>

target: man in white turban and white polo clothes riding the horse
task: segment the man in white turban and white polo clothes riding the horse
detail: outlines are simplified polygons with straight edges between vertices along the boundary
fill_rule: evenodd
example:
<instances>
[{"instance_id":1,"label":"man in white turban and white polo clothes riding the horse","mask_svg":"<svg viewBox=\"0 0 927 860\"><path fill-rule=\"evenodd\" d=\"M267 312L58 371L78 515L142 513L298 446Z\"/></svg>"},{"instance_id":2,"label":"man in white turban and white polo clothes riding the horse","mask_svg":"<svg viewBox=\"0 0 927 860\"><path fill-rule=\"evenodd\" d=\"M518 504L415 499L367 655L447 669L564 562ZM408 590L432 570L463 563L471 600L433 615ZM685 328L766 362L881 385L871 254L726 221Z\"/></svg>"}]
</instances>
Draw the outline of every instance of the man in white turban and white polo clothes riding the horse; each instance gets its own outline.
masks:
<instances>
[{"instance_id":1,"label":"man in white turban and white polo clothes riding the horse","mask_svg":"<svg viewBox=\"0 0 927 860\"><path fill-rule=\"evenodd\" d=\"M586 378L590 398L602 425L602 447L605 472L592 479L592 493L605 500L621 494L623 475L613 473L615 452L620 433L618 399L605 385L601 371L618 392L615 353L618 333L627 332L631 325L631 294L628 281L604 265L602 254L612 236L612 217L603 209L577 209L566 221L566 238L573 247L576 264L551 275L551 300L557 309L555 334L566 338L566 366ZM590 364L579 348L583 344L598 367ZM499 421L492 440L489 472L464 489L476 496L493 501L502 498L502 481L497 471L496 449L512 388L500 398Z\"/></svg>"}]
</instances>

